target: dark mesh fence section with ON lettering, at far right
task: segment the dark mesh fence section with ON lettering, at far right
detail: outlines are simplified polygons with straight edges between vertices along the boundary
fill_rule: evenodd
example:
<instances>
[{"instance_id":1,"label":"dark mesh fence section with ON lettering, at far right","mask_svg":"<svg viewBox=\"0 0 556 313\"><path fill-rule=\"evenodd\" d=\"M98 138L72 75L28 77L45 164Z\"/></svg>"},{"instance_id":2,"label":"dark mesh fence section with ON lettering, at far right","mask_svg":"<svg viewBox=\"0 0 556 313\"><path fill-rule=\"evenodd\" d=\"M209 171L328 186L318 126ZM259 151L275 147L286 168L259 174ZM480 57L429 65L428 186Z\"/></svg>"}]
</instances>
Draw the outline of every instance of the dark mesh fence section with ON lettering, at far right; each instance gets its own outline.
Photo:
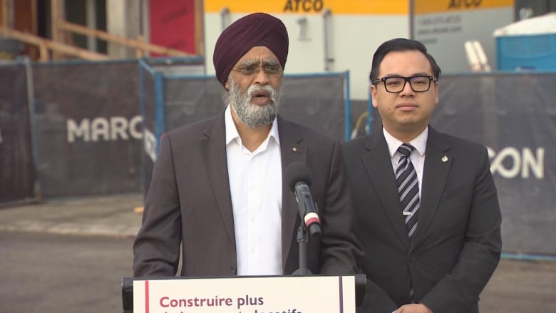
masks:
<instances>
[{"instance_id":1,"label":"dark mesh fence section with ON lettering, at far right","mask_svg":"<svg viewBox=\"0 0 556 313\"><path fill-rule=\"evenodd\" d=\"M488 147L505 252L556 254L556 73L443 76L431 120Z\"/></svg>"}]
</instances>

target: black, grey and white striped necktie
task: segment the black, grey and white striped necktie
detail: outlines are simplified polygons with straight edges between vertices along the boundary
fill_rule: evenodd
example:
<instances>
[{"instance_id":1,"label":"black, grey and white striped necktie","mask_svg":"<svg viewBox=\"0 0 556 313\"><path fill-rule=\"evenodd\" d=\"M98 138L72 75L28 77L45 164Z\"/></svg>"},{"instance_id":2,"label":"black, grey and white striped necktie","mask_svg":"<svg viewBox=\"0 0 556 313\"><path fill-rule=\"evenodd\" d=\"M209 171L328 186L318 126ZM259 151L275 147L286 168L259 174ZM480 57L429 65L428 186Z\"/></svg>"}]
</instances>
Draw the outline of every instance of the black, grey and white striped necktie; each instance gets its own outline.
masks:
<instances>
[{"instance_id":1,"label":"black, grey and white striped necktie","mask_svg":"<svg viewBox=\"0 0 556 313\"><path fill-rule=\"evenodd\" d=\"M417 228L417 213L419 210L417 172L409 159L409 155L414 149L413 145L408 143L400 145L398 153L401 153L401 158L398 161L398 168L396 168L396 183L400 194L402 214L406 220L406 228L410 238Z\"/></svg>"}]
</instances>

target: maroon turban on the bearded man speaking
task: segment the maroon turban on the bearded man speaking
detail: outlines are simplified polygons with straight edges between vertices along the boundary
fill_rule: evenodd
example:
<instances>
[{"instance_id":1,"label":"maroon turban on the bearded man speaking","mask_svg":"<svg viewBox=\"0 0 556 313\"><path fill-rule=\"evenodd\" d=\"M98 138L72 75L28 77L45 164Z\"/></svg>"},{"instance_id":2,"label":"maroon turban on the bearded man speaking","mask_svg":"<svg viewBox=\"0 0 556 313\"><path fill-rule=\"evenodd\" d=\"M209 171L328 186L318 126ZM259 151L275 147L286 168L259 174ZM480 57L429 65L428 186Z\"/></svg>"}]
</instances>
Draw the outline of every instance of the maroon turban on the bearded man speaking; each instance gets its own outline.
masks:
<instances>
[{"instance_id":1,"label":"maroon turban on the bearded man speaking","mask_svg":"<svg viewBox=\"0 0 556 313\"><path fill-rule=\"evenodd\" d=\"M288 44L286 26L279 19L264 13L243 16L222 31L216 41L212 56L216 78L224 86L235 63L254 46L269 48L284 68Z\"/></svg>"}]
</instances>

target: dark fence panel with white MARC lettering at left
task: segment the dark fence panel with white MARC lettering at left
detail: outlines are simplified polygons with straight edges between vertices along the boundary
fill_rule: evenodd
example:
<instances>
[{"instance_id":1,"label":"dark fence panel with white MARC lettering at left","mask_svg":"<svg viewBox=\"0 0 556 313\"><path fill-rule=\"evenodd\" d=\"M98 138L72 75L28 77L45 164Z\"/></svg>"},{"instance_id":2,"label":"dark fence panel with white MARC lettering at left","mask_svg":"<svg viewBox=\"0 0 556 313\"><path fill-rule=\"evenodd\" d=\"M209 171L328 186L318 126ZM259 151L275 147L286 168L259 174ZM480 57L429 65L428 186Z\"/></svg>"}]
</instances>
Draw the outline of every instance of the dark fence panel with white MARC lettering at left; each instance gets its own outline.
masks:
<instances>
[{"instance_id":1,"label":"dark fence panel with white MARC lettering at left","mask_svg":"<svg viewBox=\"0 0 556 313\"><path fill-rule=\"evenodd\" d=\"M33 76L43 197L140 190L137 62L36 63Z\"/></svg>"}]
</instances>

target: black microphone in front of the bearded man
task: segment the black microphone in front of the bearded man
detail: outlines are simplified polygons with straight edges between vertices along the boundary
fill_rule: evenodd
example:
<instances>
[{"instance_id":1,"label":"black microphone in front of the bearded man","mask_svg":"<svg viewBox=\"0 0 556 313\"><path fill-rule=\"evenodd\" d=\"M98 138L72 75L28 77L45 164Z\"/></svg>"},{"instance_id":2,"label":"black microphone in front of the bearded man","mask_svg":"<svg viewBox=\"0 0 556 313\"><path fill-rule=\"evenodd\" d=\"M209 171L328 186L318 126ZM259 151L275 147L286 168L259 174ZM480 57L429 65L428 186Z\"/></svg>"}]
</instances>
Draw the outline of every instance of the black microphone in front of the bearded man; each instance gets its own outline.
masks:
<instances>
[{"instance_id":1,"label":"black microphone in front of the bearded man","mask_svg":"<svg viewBox=\"0 0 556 313\"><path fill-rule=\"evenodd\" d=\"M319 219L319 210L314 204L311 190L309 190L311 186L309 168L302 162L291 163L284 171L284 178L289 189L295 194L299 216L305 223L305 227L313 237L319 237L321 235L321 220Z\"/></svg>"}]
</instances>

